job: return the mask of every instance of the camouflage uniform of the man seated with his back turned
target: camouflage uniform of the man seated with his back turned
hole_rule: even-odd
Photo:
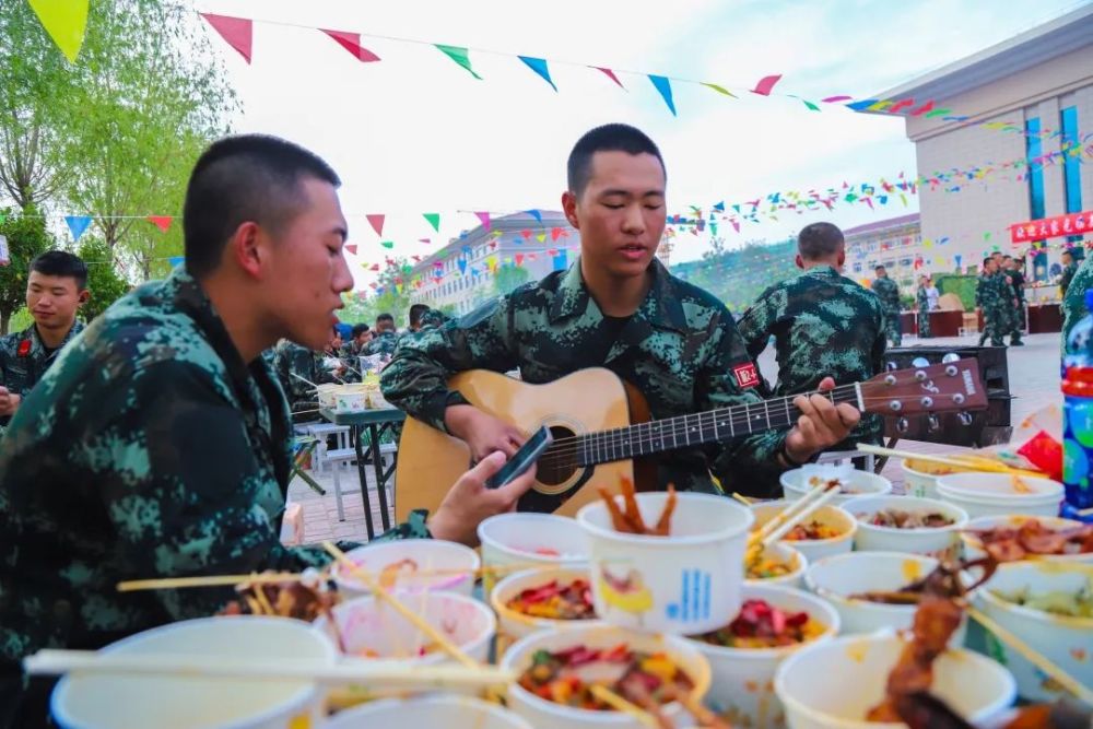
[[[884,310],[880,299],[839,275],[816,266],[771,286],[737,324],[757,358],[773,336],[778,354],[777,396],[815,390],[824,377],[836,385],[869,379],[884,368]],[[883,421],[862,415],[861,423],[832,450],[857,443],[880,443]]]

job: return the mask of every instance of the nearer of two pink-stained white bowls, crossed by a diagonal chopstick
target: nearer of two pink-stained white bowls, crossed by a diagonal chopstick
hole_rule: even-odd
[[[497,632],[497,619],[489,607],[456,592],[420,592],[402,596],[402,600],[468,656],[486,659]],[[449,660],[443,646],[373,596],[336,605],[329,618],[318,618],[313,626],[350,658],[426,665]]]

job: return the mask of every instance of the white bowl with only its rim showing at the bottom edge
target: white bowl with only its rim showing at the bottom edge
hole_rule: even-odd
[[[471,696],[423,696],[386,698],[341,712],[320,729],[392,729],[395,727],[444,727],[444,729],[532,729],[513,712]]]

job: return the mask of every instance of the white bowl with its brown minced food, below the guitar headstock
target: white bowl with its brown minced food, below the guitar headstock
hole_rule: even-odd
[[[952,560],[967,514],[959,506],[917,496],[860,496],[845,508],[858,520],[859,552],[906,552]]]

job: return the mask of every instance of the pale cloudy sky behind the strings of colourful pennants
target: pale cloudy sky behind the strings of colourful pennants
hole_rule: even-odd
[[[898,118],[750,94],[780,73],[776,92],[819,102],[882,92],[1003,40],[1081,3],[1036,0],[774,2],[728,0],[195,0],[203,12],[389,38],[362,38],[383,60],[361,63],[328,36],[255,24],[252,63],[213,37],[243,104],[240,131],[274,133],[318,152],[343,179],[354,262],[427,255],[477,219],[557,209],[565,158],[586,130],[624,121],[649,133],[668,166],[670,212],[807,190],[843,180],[914,174]],[[212,34],[212,30],[208,32]],[[391,37],[420,40],[406,43]],[[473,79],[428,44],[471,47]],[[473,49],[502,51],[495,55]],[[551,63],[555,93],[515,55]],[[620,70],[623,91],[599,71]],[[707,81],[727,98],[674,83],[672,117],[648,79],[623,70]],[[780,239],[812,220],[848,227],[912,208],[836,208],[731,228],[729,246]],[[442,214],[440,234],[421,216]],[[384,238],[364,215],[385,213]],[[726,226],[727,227],[727,226]],[[419,243],[431,237],[432,244]],[[673,260],[707,242],[684,235]],[[354,266],[359,287],[368,274]]]

